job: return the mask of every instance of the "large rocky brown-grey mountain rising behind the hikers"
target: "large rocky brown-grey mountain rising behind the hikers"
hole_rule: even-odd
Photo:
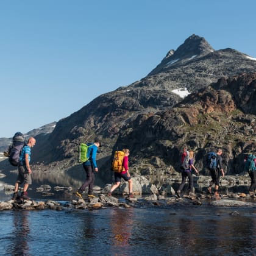
[[[102,141],[99,172],[109,182],[112,153],[130,149],[130,170],[168,186],[179,169],[180,149],[195,152],[201,174],[205,153],[224,151],[227,174],[243,171],[254,146],[255,60],[235,49],[215,51],[191,35],[166,54],[148,76],[91,101],[61,119],[47,137],[37,137],[32,160],[56,169],[76,168],[79,142]],[[187,88],[180,98],[173,90]]]

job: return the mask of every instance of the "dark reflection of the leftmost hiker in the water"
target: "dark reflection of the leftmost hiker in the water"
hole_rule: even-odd
[[[29,256],[30,224],[29,212],[19,211],[13,213],[13,244],[10,244],[7,253],[11,255]]]

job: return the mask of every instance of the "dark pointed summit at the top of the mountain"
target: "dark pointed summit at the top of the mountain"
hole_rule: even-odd
[[[174,63],[186,62],[196,57],[201,57],[210,52],[215,51],[212,46],[198,35],[191,35],[183,44],[181,44],[176,51],[169,51],[162,62],[149,73],[149,76],[166,71],[168,68],[172,68]]]

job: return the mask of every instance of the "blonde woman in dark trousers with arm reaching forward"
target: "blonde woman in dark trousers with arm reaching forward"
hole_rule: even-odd
[[[182,161],[185,160],[186,156],[187,156],[187,154],[185,154],[185,151],[184,151],[183,154],[182,154],[182,158],[183,158]],[[182,168],[182,183],[180,184],[179,190],[177,190],[177,192],[176,192],[179,197],[181,196],[181,191],[183,190],[183,187],[186,183],[187,177],[188,177],[188,180],[189,180],[188,194],[190,194],[190,192],[193,192],[192,169],[194,169],[194,171],[198,174],[198,171],[197,171],[196,167],[194,167],[194,165],[193,165],[193,158],[194,158],[194,152],[190,151],[189,152],[188,166],[187,166],[187,168]]]

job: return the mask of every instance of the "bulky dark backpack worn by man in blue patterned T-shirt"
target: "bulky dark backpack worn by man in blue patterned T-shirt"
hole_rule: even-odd
[[[8,150],[4,152],[5,157],[9,157],[9,162],[12,166],[18,166],[20,163],[20,154],[23,147],[26,145],[26,140],[23,133],[16,132],[12,137],[12,144]]]

